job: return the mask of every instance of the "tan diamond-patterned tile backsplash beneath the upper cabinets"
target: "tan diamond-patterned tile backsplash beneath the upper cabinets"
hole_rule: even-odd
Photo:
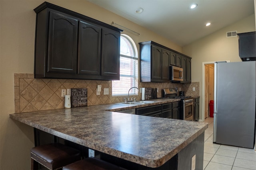
[[[109,88],[109,94],[104,95],[103,90],[96,95],[97,85],[102,89]],[[185,91],[186,96],[199,96],[199,82],[191,84],[139,82],[142,87],[159,88],[157,97],[162,96],[163,88],[175,88]],[[196,91],[192,91],[195,87]],[[64,97],[61,89],[87,88],[87,105],[100,105],[122,102],[124,96],[112,96],[112,81],[106,80],[70,80],[34,78],[34,74],[14,73],[14,109],[15,113],[64,108]],[[133,96],[141,100],[141,94]]]

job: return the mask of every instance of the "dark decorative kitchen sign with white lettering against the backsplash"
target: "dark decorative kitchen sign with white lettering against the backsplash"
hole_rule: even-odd
[[[71,107],[87,106],[87,88],[71,89]]]

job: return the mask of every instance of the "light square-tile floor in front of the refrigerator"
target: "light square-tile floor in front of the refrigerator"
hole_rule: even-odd
[[[205,119],[204,170],[256,170],[256,152],[253,149],[212,143],[213,118]]]

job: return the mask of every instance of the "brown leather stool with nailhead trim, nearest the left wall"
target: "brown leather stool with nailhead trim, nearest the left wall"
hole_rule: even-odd
[[[62,145],[50,143],[34,147],[30,151],[31,170],[38,169],[38,163],[50,170],[61,169],[63,166],[81,160],[80,151]]]

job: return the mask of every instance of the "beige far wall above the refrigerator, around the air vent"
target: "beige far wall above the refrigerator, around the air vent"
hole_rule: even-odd
[[[229,31],[238,33],[255,31],[254,14],[183,47],[183,53],[192,57],[192,82],[200,82],[200,119],[202,119],[202,107],[204,106],[202,101],[202,63],[225,60],[241,61],[238,54],[238,37],[227,38],[226,32]]]

